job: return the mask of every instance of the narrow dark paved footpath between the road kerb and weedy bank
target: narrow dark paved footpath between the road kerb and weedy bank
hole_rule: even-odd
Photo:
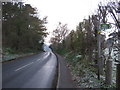
[[[70,70],[67,67],[67,64],[63,57],[57,54],[59,62],[59,75],[58,75],[58,86],[57,88],[76,88]]]

